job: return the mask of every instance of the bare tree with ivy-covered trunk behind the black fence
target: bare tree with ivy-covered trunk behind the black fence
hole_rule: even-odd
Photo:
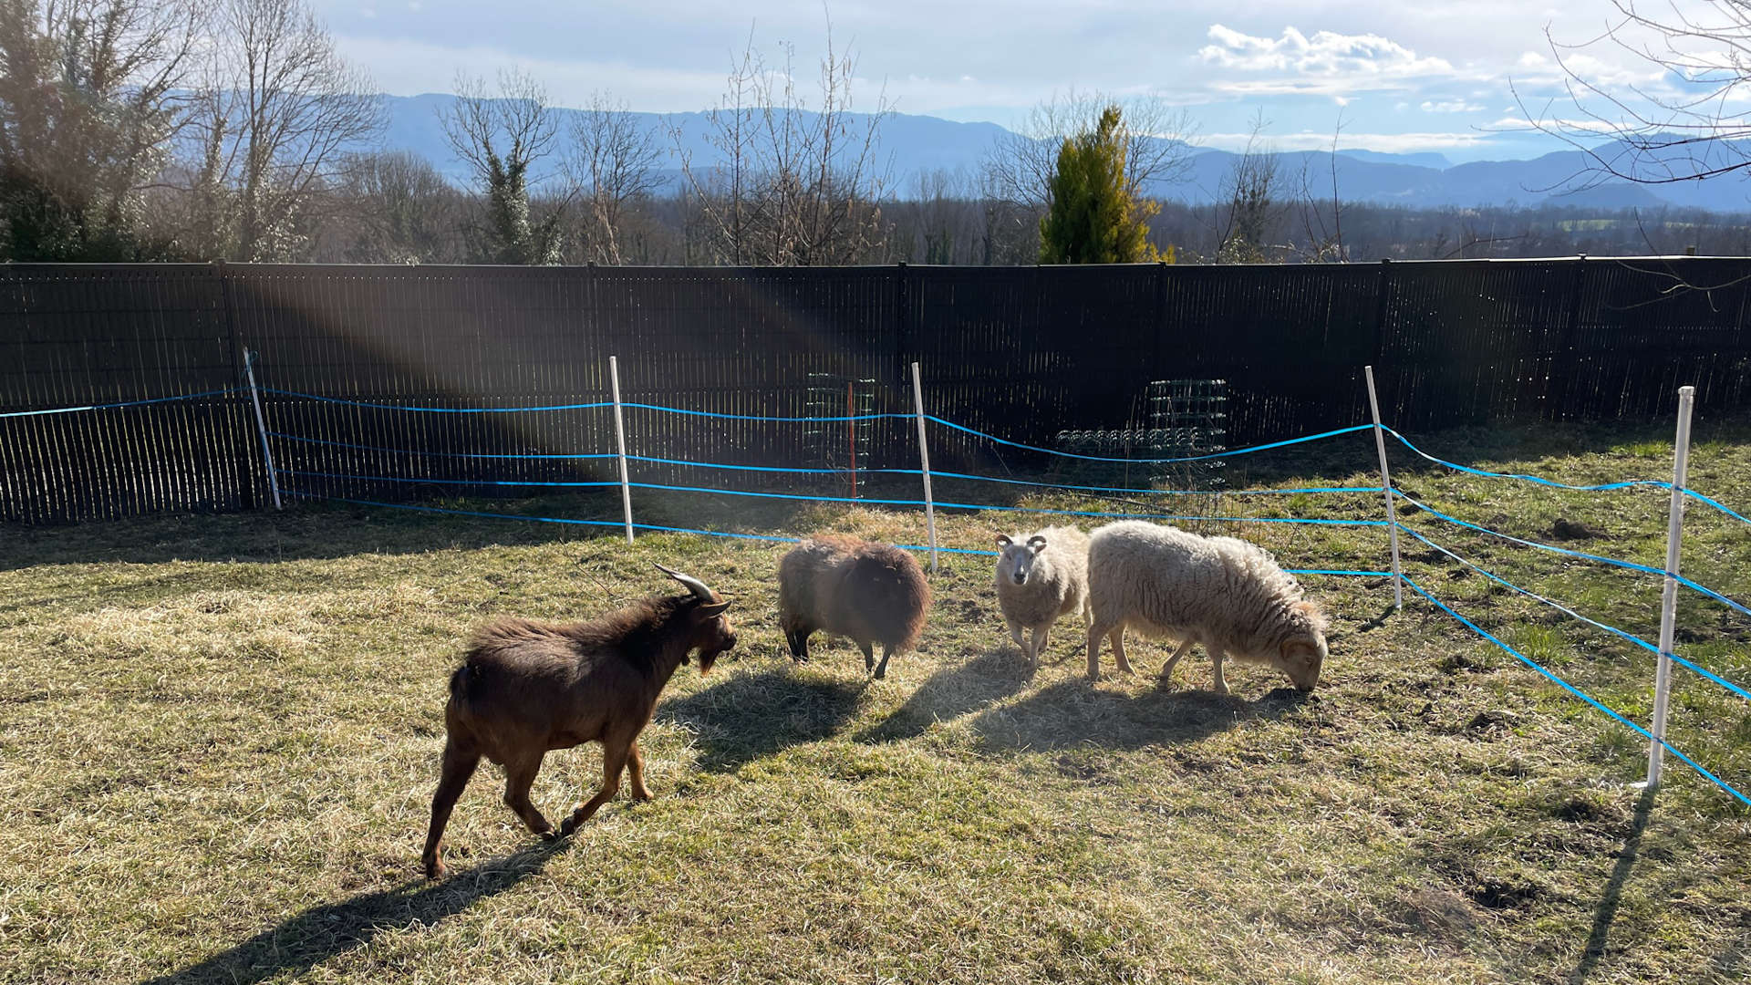
[[[524,72],[501,72],[499,93],[487,93],[480,79],[457,75],[457,100],[440,110],[450,151],[475,172],[485,196],[487,216],[476,230],[476,258],[483,263],[559,263],[560,200],[543,219],[534,219],[531,186],[546,175],[531,174],[553,152],[555,123],[546,89]]]

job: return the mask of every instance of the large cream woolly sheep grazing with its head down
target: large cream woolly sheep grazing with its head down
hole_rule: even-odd
[[[1301,691],[1313,691],[1326,663],[1326,615],[1301,598],[1301,585],[1264,549],[1233,536],[1199,536],[1170,526],[1122,521],[1089,536],[1089,680],[1100,678],[1100,640],[1112,640],[1119,670],[1124,629],[1180,640],[1173,664],[1203,643],[1215,664],[1215,689],[1227,694],[1222,659],[1268,664]]]

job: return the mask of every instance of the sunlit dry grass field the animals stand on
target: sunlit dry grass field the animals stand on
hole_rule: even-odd
[[[1702,429],[1693,485],[1751,505],[1742,428]],[[1236,463],[1234,485],[1366,485],[1371,442]],[[1429,436],[1508,471],[1669,477],[1663,431]],[[1347,457],[1345,457],[1347,456]],[[1404,457],[1404,456],[1397,456]],[[1336,464],[1334,464],[1336,463]],[[1250,471],[1248,471],[1250,470]],[[1066,480],[1073,480],[1068,478]],[[1660,564],[1665,496],[1565,494],[1406,468],[1455,515]],[[947,492],[939,491],[940,496]],[[1042,500],[1093,508],[1087,500]],[[1152,508],[1161,503],[1149,501]],[[1191,503],[1173,503],[1187,507]],[[1378,517],[1378,496],[1199,510]],[[497,505],[615,515],[601,500]],[[641,498],[650,522],[844,529],[912,514]],[[944,519],[986,547],[1014,515]],[[1504,578],[1655,638],[1656,580],[1406,522]],[[1289,566],[1380,568],[1380,529],[1247,524]],[[1751,528],[1707,510],[1684,571],[1751,598]],[[921,652],[867,682],[844,643],[783,655],[783,545],[301,505],[282,515],[4,529],[4,981],[1740,981],[1751,811],[1382,578],[1306,577],[1334,620],[1311,696],[1187,659],[1171,687],[1082,680],[1066,622],[1030,675],[989,559],[949,556]],[[1406,545],[1443,601],[1635,720],[1651,659]],[[418,878],[459,640],[492,613],[587,617],[669,591],[739,599],[742,643],[683,668],[644,734],[657,799],[569,841],[527,836],[487,768],[454,875]],[[1751,619],[1686,598],[1679,652],[1751,682]],[[1143,643],[1140,670],[1164,650]],[[1751,787],[1751,706],[1676,671],[1672,740]],[[548,757],[552,817],[599,776]]]

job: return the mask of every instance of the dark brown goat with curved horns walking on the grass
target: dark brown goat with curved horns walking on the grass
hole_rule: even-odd
[[[730,603],[699,578],[662,570],[690,594],[646,598],[592,622],[501,619],[475,633],[450,675],[443,776],[425,834],[427,878],[445,871],[438,857],[443,829],[482,755],[504,768],[504,806],[543,838],[553,838],[553,827],[529,803],[529,787],[550,750],[602,743],[602,789],[560,822],[562,838],[613,799],[622,769],[632,775],[634,799],[651,797],[637,740],[657,696],[693,650],[699,673],[707,673],[735,645],[725,613]]]

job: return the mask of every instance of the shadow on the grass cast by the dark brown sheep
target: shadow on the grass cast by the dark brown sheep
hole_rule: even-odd
[[[699,766],[732,773],[793,745],[839,731],[858,708],[863,687],[786,670],[739,673],[665,701],[657,719],[693,733]]]

